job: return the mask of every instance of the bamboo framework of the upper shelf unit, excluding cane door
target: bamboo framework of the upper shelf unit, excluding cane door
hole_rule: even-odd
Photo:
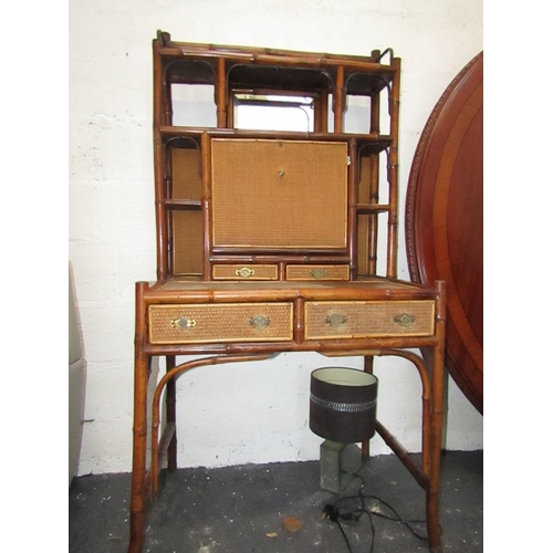
[[[255,67],[289,67],[289,69],[304,69],[311,72],[325,74],[324,83],[333,83],[332,90],[314,88],[312,91],[305,90],[305,85],[298,85],[298,91],[312,93],[315,98],[315,121],[314,133],[310,133],[307,138],[311,140],[319,139],[337,139],[348,142],[352,148],[352,163],[356,158],[355,142],[352,140],[352,135],[344,133],[344,113],[346,106],[346,96],[351,92],[347,91],[346,83],[348,75],[352,74],[374,74],[382,79],[379,86],[385,87],[386,83],[392,87],[395,97],[398,97],[399,88],[399,60],[390,58],[389,64],[380,62],[382,56],[379,52],[372,52],[371,56],[359,55],[336,55],[336,54],[320,54],[309,52],[292,52],[286,50],[267,50],[255,48],[237,48],[237,46],[217,46],[210,44],[191,44],[186,42],[173,41],[168,33],[158,32],[157,39],[153,43],[154,49],[154,127],[155,127],[155,177],[156,177],[156,225],[157,225],[157,267],[158,280],[165,280],[173,276],[173,237],[169,232],[168,225],[170,221],[169,209],[197,209],[195,205],[181,200],[179,202],[168,200],[165,195],[165,178],[164,174],[164,152],[163,143],[174,136],[189,136],[194,137],[196,134],[197,142],[201,143],[202,164],[206,168],[207,159],[209,159],[209,152],[207,149],[208,143],[206,142],[205,134],[208,133],[210,137],[220,136],[236,136],[236,137],[270,137],[273,138],[273,132],[248,132],[237,131],[233,127],[233,94],[234,88],[232,85],[231,70],[234,65],[252,65]],[[170,82],[169,75],[175,75],[177,81],[182,81],[182,70],[176,70],[179,62],[186,63],[186,71],[196,71],[195,67],[204,67],[196,77],[192,77],[190,83],[209,83],[215,86],[215,104],[217,111],[217,128],[190,128],[190,127],[174,127],[171,126],[171,96],[170,96]],[[197,63],[195,63],[197,62]],[[171,67],[171,71],[169,71]],[[211,71],[206,67],[211,67]],[[315,73],[312,73],[315,74]],[[199,81],[197,80],[199,79]],[[317,84],[321,86],[321,83]],[[358,86],[358,85],[357,85]],[[364,86],[364,84],[362,85]],[[371,85],[373,86],[373,85]],[[270,90],[271,85],[268,86]],[[281,93],[284,91],[280,91]],[[292,91],[291,91],[292,92]],[[300,92],[299,92],[300,93]],[[333,94],[333,133],[327,133],[327,108],[328,94]],[[371,93],[372,105],[378,105],[379,91],[376,90]],[[397,107],[397,103],[390,102],[390,105]],[[389,144],[390,152],[390,169],[389,169],[389,198],[390,201],[386,206],[378,206],[371,204],[366,206],[357,206],[357,211],[349,210],[348,221],[348,255],[349,264],[352,268],[351,274],[354,280],[357,275],[354,251],[356,250],[357,236],[353,232],[357,225],[357,217],[362,212],[369,212],[371,233],[368,236],[368,255],[369,268],[376,274],[376,242],[377,242],[377,223],[378,213],[388,213],[388,252],[386,262],[386,275],[395,276],[397,272],[397,160],[395,158],[397,152],[397,108],[393,108],[390,113],[390,128],[393,129],[389,137],[383,137],[379,134],[379,122],[375,116],[375,107],[372,107],[371,113],[371,132],[368,135],[363,135],[364,140],[373,140],[375,144],[385,138]],[[279,133],[282,139],[298,139],[298,133]],[[365,149],[366,143],[363,147],[357,146],[357,150]],[[372,173],[377,177],[379,161],[375,155],[372,155]],[[355,173],[356,168],[352,168],[351,173]],[[167,176],[170,179],[170,175]],[[373,177],[372,177],[373,178]],[[204,278],[209,280],[210,274],[210,258],[217,253],[215,252],[210,242],[208,232],[208,218],[210,211],[209,204],[209,177],[204,176],[206,198],[202,202],[204,216],[204,233],[205,233],[205,255],[204,255]],[[372,198],[378,197],[378,179],[374,178],[372,188]],[[353,197],[354,192],[352,192]],[[374,202],[374,200],[372,200]],[[229,254],[236,255],[237,252],[230,250]],[[258,252],[263,253],[263,252]],[[293,252],[279,252],[285,255]],[[300,252],[298,252],[300,253]],[[305,252],[302,252],[305,254]],[[313,253],[313,252],[311,252]],[[332,254],[334,252],[323,252],[324,254]],[[186,270],[184,271],[186,273]],[[283,274],[285,271],[283,271]]]

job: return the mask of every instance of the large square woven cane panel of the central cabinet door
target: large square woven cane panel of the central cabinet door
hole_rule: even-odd
[[[211,152],[215,247],[346,247],[347,144],[213,139]]]

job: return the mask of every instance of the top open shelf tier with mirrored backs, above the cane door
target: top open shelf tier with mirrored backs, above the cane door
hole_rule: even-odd
[[[376,135],[393,140],[396,134],[392,119],[399,103],[400,60],[389,49],[371,56],[305,53],[175,42],[160,31],[156,44],[155,106],[161,109],[156,121],[161,128],[178,127],[174,134],[180,127],[263,131],[257,113],[268,107],[281,114],[273,121],[284,125],[269,124],[265,129],[273,133],[347,133],[371,135],[368,140]]]

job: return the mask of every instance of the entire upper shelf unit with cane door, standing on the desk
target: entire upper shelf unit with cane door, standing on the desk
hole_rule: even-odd
[[[396,276],[390,49],[153,46],[159,279]]]

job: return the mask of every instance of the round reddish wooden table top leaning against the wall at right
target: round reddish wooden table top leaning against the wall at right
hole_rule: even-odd
[[[448,86],[420,137],[406,202],[411,280],[447,284],[446,366],[483,413],[483,53]]]

